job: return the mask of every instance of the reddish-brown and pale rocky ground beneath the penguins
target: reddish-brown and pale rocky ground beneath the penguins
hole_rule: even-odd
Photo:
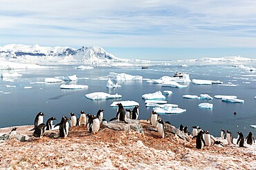
[[[86,127],[71,127],[67,138],[46,131],[41,139],[31,136],[33,126],[18,127],[29,138],[1,140],[0,169],[256,169],[255,145],[241,148],[223,141],[225,147],[196,149],[192,138],[170,132],[160,138],[146,120],[138,125],[138,131],[101,125],[94,135]]]

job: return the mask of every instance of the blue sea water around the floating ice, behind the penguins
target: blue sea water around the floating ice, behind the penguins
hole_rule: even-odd
[[[7,71],[0,71],[7,72]],[[116,100],[135,100],[140,103],[139,119],[147,119],[152,108],[146,108],[141,96],[146,93],[154,93],[161,90],[172,90],[173,94],[167,96],[168,103],[179,105],[182,109],[187,109],[183,114],[161,115],[165,121],[170,121],[172,125],[179,127],[180,124],[188,125],[191,129],[193,125],[199,125],[210,131],[214,136],[219,136],[220,129],[230,129],[235,134],[242,131],[248,134],[256,129],[250,125],[256,125],[256,76],[244,76],[255,74],[246,72],[228,65],[190,65],[189,67],[177,67],[176,65],[156,65],[142,70],[140,67],[95,67],[93,70],[76,70],[72,66],[63,66],[46,70],[10,70],[8,72],[18,72],[21,77],[15,78],[14,82],[0,80],[0,91],[10,92],[10,94],[0,93],[0,127],[10,127],[18,125],[33,125],[35,115],[42,111],[45,121],[51,116],[55,116],[59,122],[62,116],[68,116],[73,112],[79,116],[79,111],[96,114],[98,109],[104,109],[104,118],[109,120],[116,116],[116,108],[111,107],[111,103]],[[106,76],[109,72],[127,73],[131,75],[143,76],[143,78],[161,78],[161,76],[172,76],[175,72],[186,72],[190,74],[190,79],[208,79],[213,81],[223,81],[224,84],[237,84],[236,87],[222,85],[194,85],[188,84],[187,88],[179,89],[173,87],[161,87],[161,85],[149,84],[146,81],[123,81],[118,89],[108,89],[106,86]],[[89,85],[88,89],[64,90],[60,89],[60,84],[35,83],[44,82],[44,78],[53,76],[70,76],[76,74],[80,85]],[[246,82],[246,83],[245,83]],[[248,83],[249,82],[249,83]],[[6,85],[16,85],[16,87],[6,87]],[[30,89],[24,87],[30,86]],[[122,94],[120,99],[109,100],[89,100],[84,95],[92,92],[107,92],[109,94]],[[214,95],[235,95],[239,99],[244,99],[243,103],[225,103],[219,99],[198,100],[183,98],[184,94]],[[212,103],[213,109],[200,109],[199,103]],[[234,115],[237,111],[237,115]]]

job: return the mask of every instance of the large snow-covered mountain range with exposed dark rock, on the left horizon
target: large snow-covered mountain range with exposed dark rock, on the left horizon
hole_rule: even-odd
[[[10,44],[0,46],[0,59],[22,63],[111,63],[125,62],[102,47],[42,47],[39,45]]]

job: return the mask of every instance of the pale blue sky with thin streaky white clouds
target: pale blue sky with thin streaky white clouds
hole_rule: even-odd
[[[0,46],[98,45],[125,59],[256,59],[256,1],[0,0]]]

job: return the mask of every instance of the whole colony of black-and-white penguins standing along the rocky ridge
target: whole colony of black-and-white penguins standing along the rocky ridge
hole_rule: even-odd
[[[127,123],[127,119],[138,120],[138,105],[136,105],[132,111],[130,109],[124,109],[121,103],[118,103],[116,105],[118,106],[116,117],[111,118],[111,120],[109,121],[118,120],[119,122]],[[34,130],[33,136],[37,138],[42,138],[46,130],[52,130],[55,127],[59,127],[59,137],[66,138],[68,136],[69,127],[86,126],[90,133],[96,134],[100,130],[100,124],[107,124],[107,120],[103,118],[103,112],[103,109],[99,109],[96,115],[92,115],[85,114],[84,111],[80,111],[80,116],[78,118],[75,116],[75,114],[70,113],[71,118],[62,116],[60,123],[57,123],[55,126],[53,126],[53,120],[57,120],[55,117],[48,118],[45,125],[45,115],[43,112],[39,112],[37,116],[35,116],[34,128],[30,131]],[[153,127],[156,127],[160,138],[165,138],[165,124],[170,124],[170,122],[163,122],[163,119],[154,110],[152,111],[149,120],[151,125]],[[16,129],[13,131],[16,131]],[[183,125],[180,125],[179,131],[188,136],[192,136],[192,139],[196,138],[197,149],[203,149],[204,146],[210,145],[216,147],[224,147],[223,142],[219,140],[214,140],[214,138],[210,135],[209,131],[204,131],[199,126],[193,126],[192,131],[190,132],[188,131],[188,126],[184,127]],[[255,143],[255,139],[251,131],[246,138],[244,138],[244,134],[242,134],[241,131],[237,132],[237,134],[238,139],[236,145],[238,145],[239,147],[244,147],[244,142],[246,142],[248,145],[253,145]],[[221,129],[220,135],[222,140],[227,140],[228,145],[235,145],[233,143],[233,136],[230,130],[225,131],[224,129]]]

